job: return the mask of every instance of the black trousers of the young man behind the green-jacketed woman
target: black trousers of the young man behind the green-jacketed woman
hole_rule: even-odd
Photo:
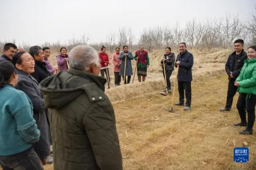
[[[233,104],[233,98],[236,95],[237,86],[234,85],[235,79],[232,78],[228,81],[228,92],[227,92],[227,99],[226,99],[226,109],[231,109]]]

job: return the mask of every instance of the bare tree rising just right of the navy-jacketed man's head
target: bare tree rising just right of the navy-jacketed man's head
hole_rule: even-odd
[[[190,20],[186,23],[185,33],[190,47],[195,48],[198,46],[198,43],[204,34],[204,26],[193,18],[192,21]]]

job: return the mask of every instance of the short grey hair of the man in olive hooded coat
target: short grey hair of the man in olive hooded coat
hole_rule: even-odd
[[[92,64],[100,66],[97,51],[88,45],[78,45],[68,55],[70,56],[70,67],[73,69],[86,71]]]

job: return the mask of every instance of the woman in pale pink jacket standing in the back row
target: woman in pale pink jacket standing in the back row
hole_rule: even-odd
[[[118,58],[120,57],[120,48],[116,48],[116,53],[112,55],[112,63],[113,63],[113,71],[115,76],[115,86],[120,86],[121,76],[119,75],[121,60]]]

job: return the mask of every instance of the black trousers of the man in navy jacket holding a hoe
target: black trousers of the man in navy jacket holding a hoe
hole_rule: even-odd
[[[178,81],[178,91],[179,91],[179,102],[184,104],[184,91],[186,95],[186,106],[191,105],[191,82],[181,82]]]

